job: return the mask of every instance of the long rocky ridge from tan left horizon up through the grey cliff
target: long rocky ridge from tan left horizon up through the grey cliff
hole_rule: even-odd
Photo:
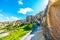
[[[9,22],[0,22],[0,27],[4,26],[20,26],[21,24],[26,24],[26,23],[37,23],[40,25],[41,20],[42,20],[42,14],[44,14],[43,11],[40,13],[36,14],[35,16],[29,15],[26,17],[25,20],[17,20],[17,21],[9,21]]]

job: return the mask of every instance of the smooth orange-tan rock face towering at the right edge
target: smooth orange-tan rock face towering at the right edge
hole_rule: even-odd
[[[51,0],[53,4],[50,5],[49,7],[49,22],[48,24],[50,25],[51,29],[51,36],[53,37],[54,40],[60,40],[60,1]]]

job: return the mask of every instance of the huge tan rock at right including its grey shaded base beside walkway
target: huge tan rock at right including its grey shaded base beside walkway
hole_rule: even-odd
[[[47,40],[60,40],[60,0],[50,0],[45,23],[45,26],[47,26],[45,27]]]

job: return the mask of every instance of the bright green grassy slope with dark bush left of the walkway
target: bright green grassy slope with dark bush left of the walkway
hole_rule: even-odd
[[[27,34],[32,28],[33,28],[33,24],[26,24],[26,25],[23,25],[23,26],[20,26],[20,27],[9,26],[6,29],[10,30],[11,33],[6,37],[1,38],[1,40],[19,40],[25,34]]]

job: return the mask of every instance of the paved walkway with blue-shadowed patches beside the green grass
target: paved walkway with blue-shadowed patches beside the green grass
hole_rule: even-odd
[[[34,24],[33,30],[26,34],[21,40],[45,40],[42,27],[38,27],[37,24]]]

